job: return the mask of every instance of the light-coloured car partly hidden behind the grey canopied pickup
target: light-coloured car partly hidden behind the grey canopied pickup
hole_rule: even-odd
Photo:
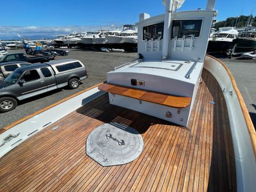
[[[31,63],[27,62],[7,62],[0,63],[0,81],[9,76],[14,70],[23,66],[30,66]]]

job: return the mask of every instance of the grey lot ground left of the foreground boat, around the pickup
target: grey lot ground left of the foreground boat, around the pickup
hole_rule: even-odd
[[[23,52],[23,50],[11,50],[9,52]],[[43,93],[42,95],[31,97],[19,102],[16,109],[6,113],[0,113],[0,129],[3,126],[9,125],[14,121],[21,119],[33,112],[38,111],[48,105],[54,104],[76,92],[82,91],[92,85],[105,81],[105,74],[113,70],[121,64],[127,63],[137,58],[137,53],[128,52],[98,52],[98,51],[84,51],[84,50],[70,50],[67,56],[57,55],[55,59],[78,59],[87,68],[88,79],[82,81],[78,89],[57,89],[55,91]]]

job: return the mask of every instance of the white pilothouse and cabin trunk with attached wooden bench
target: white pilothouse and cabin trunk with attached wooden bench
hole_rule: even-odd
[[[176,12],[184,1],[167,1],[165,14],[140,14],[136,62],[107,73],[99,87],[109,103],[188,126],[216,10]]]

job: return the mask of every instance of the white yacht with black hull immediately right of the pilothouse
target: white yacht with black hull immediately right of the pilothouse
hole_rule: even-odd
[[[233,40],[237,38],[238,31],[234,27],[220,27],[212,38],[209,38],[207,52],[225,52],[233,48]]]

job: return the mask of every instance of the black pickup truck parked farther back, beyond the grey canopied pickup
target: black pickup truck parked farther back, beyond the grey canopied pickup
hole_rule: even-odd
[[[45,56],[34,56],[34,57],[27,58],[25,54],[20,52],[20,53],[14,53],[14,54],[7,54],[3,56],[0,59],[0,63],[16,62],[16,61],[22,61],[22,62],[28,62],[28,63],[44,63],[44,62],[48,62],[49,60],[54,60],[54,56],[45,55]]]

